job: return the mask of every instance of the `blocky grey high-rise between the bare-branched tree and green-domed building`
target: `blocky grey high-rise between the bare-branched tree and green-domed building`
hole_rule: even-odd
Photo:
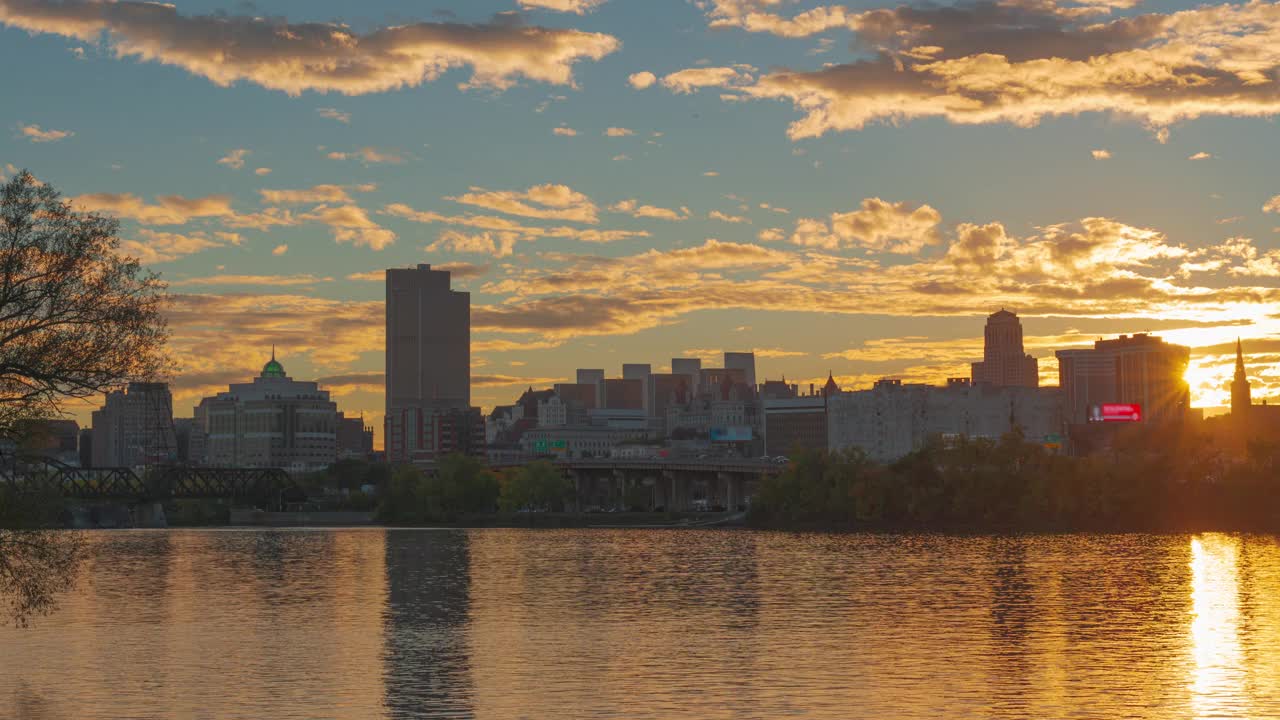
[[[93,411],[92,462],[120,468],[172,462],[178,442],[173,432],[173,395],[166,383],[129,383],[106,393]]]

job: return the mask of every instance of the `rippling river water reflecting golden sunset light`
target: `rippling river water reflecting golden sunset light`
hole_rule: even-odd
[[[1270,536],[91,537],[0,717],[1280,717]]]

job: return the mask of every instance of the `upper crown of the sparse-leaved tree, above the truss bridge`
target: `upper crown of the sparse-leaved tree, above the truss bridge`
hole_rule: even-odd
[[[165,286],[118,229],[26,170],[0,187],[0,434],[166,368]]]

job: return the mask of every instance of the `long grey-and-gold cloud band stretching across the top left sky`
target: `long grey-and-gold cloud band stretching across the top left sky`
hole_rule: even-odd
[[[224,87],[244,81],[289,95],[416,87],[460,67],[471,68],[468,87],[500,90],[520,77],[573,85],[575,63],[599,60],[620,46],[608,35],[525,26],[509,15],[361,35],[332,23],[180,15],[173,5],[132,0],[0,0],[0,23],[82,42],[105,37],[118,58],[179,67]]]

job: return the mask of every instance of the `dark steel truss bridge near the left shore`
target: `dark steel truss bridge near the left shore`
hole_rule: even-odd
[[[230,500],[262,509],[302,502],[306,493],[278,468],[76,468],[41,456],[0,459],[0,483],[19,492],[52,491],[73,500],[164,502],[182,498]]]

